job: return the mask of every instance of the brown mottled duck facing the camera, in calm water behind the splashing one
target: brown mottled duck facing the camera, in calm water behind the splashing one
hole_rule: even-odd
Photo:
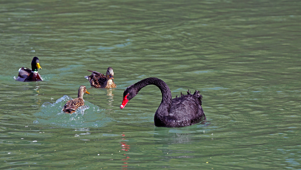
[[[95,88],[116,88],[116,84],[113,82],[114,72],[112,67],[109,67],[106,75],[96,71],[87,70],[92,72],[91,75],[86,75],[85,78],[89,80],[90,85]]]

